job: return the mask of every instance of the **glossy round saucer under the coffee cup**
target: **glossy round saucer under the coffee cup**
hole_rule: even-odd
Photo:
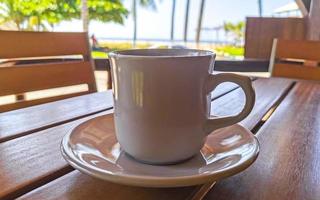
[[[63,157],[74,168],[115,183],[144,187],[179,187],[217,181],[237,174],[257,158],[256,137],[239,124],[208,136],[198,155],[176,165],[148,165],[121,151],[113,115],[86,121],[62,140]]]

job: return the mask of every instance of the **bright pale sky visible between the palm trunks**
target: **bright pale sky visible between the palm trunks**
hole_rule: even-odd
[[[294,0],[262,0],[263,16],[272,16],[273,10]],[[124,6],[130,10],[132,0],[124,0]],[[156,0],[157,10],[138,7],[138,39],[170,39],[172,0]],[[212,28],[224,22],[244,21],[247,16],[258,16],[258,0],[206,0],[202,27]],[[190,0],[188,40],[194,40],[199,15],[200,0]],[[174,38],[183,38],[186,0],[176,0]],[[62,22],[55,31],[81,31],[79,20]],[[91,21],[90,34],[97,38],[130,39],[133,35],[132,16],[129,15],[123,25],[112,22]],[[202,40],[210,40],[213,33],[203,31]]]

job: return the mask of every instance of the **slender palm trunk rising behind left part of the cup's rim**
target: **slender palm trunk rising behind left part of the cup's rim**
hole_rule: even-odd
[[[156,2],[154,0],[139,0],[140,6],[156,9]],[[137,0],[132,2],[132,18],[133,18],[133,47],[136,47],[137,42]]]

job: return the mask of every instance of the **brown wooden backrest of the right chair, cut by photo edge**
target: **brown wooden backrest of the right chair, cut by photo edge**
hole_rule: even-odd
[[[320,80],[320,41],[274,39],[272,76]]]

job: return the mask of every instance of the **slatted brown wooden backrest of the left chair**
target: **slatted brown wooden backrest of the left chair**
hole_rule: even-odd
[[[84,32],[0,31],[0,97],[16,97],[14,102],[0,104],[0,112],[96,92],[90,53],[88,35]],[[28,62],[17,65],[21,60]],[[28,93],[66,86],[82,86],[82,90],[25,98]]]

